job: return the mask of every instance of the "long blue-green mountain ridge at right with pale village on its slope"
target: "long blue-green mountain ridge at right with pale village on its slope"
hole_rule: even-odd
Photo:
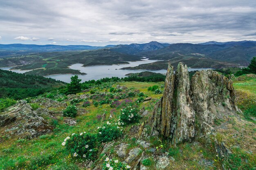
[[[148,57],[151,60],[182,60],[186,57],[203,57],[247,66],[252,57],[256,56],[256,42],[241,41],[206,45],[177,43],[137,55]]]

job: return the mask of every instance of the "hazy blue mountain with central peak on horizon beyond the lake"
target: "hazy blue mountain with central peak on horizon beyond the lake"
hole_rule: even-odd
[[[141,53],[141,52],[146,52],[146,51],[153,51],[153,50],[157,50],[157,49],[162,49],[166,46],[168,46],[170,44],[168,43],[159,43],[156,41],[152,41],[149,43],[145,43],[145,44],[129,44],[129,45],[117,45],[113,48],[111,48],[111,51],[116,51],[119,53],[126,53],[126,54],[137,54],[137,53]]]

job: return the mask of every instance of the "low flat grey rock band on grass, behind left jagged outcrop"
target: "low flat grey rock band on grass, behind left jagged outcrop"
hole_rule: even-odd
[[[38,98],[32,99],[31,103],[39,103],[41,106],[49,107],[67,107],[67,104],[64,102],[58,102],[49,98]]]

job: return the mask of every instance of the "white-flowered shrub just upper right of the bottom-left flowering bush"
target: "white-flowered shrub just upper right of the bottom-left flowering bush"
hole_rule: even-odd
[[[102,127],[98,127],[98,134],[97,138],[100,142],[109,142],[114,139],[118,139],[122,136],[122,128],[119,126],[112,126],[111,123],[107,122],[107,124],[104,124]]]

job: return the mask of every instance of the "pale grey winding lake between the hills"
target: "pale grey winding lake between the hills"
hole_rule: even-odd
[[[130,64],[118,64],[118,65],[100,65],[100,66],[86,66],[83,67],[83,64],[72,64],[69,66],[74,70],[80,70],[82,73],[87,73],[87,75],[78,75],[79,79],[82,79],[82,82],[92,80],[92,79],[101,79],[105,77],[126,77],[128,73],[140,73],[142,71],[151,71],[155,73],[165,74],[166,70],[120,70],[123,67],[133,67],[138,66],[139,64],[147,64],[152,62],[157,62],[159,60],[148,60],[144,59],[142,61],[130,62]],[[3,70],[10,70],[11,67],[0,68]],[[209,68],[188,68],[189,71],[195,70],[204,70]],[[16,73],[25,73],[29,70],[11,70]],[[53,79],[61,80],[63,82],[70,82],[70,77],[72,74],[59,74],[59,75],[48,75],[45,77],[51,77]]]

